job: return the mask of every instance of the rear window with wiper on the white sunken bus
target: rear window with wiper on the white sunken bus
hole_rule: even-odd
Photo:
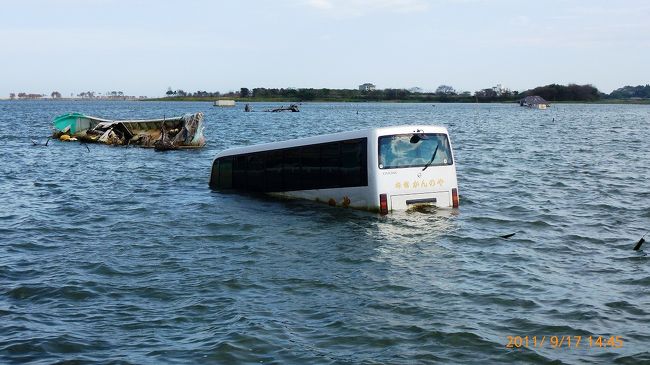
[[[451,149],[445,134],[415,133],[379,137],[380,169],[451,164]]]

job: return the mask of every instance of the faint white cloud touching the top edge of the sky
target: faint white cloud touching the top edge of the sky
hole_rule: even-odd
[[[358,17],[372,12],[412,13],[426,11],[426,0],[306,0],[306,5],[342,17]]]

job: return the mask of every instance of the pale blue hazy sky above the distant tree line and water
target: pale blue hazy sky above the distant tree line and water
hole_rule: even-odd
[[[0,98],[650,83],[650,1],[0,0]]]

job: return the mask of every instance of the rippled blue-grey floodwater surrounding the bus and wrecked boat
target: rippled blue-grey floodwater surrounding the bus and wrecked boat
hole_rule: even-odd
[[[202,111],[209,144],[32,145],[75,111]],[[458,210],[208,188],[227,147],[420,123],[450,131]],[[0,363],[650,362],[649,140],[634,105],[2,101]]]

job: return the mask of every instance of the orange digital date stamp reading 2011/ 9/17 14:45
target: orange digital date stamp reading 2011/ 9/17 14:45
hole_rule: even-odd
[[[579,349],[579,348],[613,348],[623,347],[622,336],[506,336],[506,348],[543,348]]]

